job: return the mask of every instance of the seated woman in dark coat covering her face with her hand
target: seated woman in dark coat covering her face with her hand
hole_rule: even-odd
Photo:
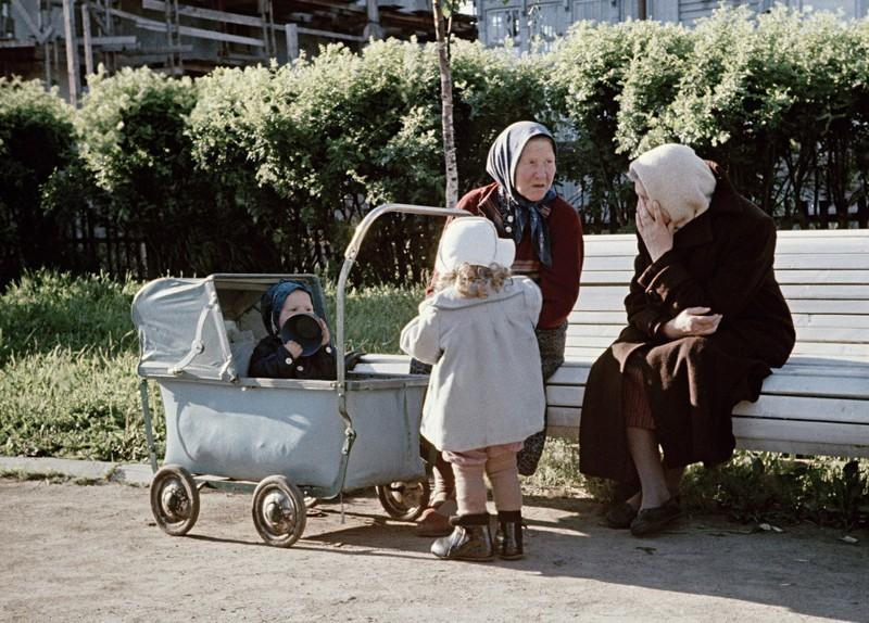
[[[665,144],[629,176],[639,254],[628,326],[589,376],[580,470],[621,483],[630,497],[607,522],[640,536],[679,517],[685,466],[730,458],[733,407],[757,399],[795,338],[772,270],[774,224],[718,165]]]

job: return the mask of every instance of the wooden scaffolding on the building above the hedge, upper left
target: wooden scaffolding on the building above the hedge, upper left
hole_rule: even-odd
[[[60,85],[75,102],[81,77],[100,64],[110,75],[142,65],[201,75],[218,65],[291,62],[328,41],[430,40],[428,1],[0,0],[0,62],[4,74]],[[475,38],[465,22],[457,35]]]

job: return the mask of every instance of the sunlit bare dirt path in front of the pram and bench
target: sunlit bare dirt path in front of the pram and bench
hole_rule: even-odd
[[[188,537],[148,491],[0,479],[2,621],[869,621],[869,534],[691,518],[640,541],[589,500],[532,498],[525,560],[442,562],[358,497],[261,544],[249,498],[204,493]]]

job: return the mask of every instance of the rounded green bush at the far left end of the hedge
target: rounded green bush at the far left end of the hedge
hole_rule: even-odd
[[[73,111],[38,80],[0,77],[0,287],[61,260],[60,224],[40,194],[75,158]]]

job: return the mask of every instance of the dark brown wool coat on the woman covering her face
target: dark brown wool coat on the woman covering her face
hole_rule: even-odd
[[[643,372],[665,463],[681,467],[730,458],[733,406],[756,400],[770,367],[784,365],[793,348],[791,313],[772,271],[774,223],[709,166],[717,180],[709,209],[677,232],[673,249],[653,264],[639,242],[628,327],[585,385],[579,455],[588,475],[635,481],[621,408],[629,357]],[[687,307],[721,314],[718,330],[667,341],[658,330]]]

